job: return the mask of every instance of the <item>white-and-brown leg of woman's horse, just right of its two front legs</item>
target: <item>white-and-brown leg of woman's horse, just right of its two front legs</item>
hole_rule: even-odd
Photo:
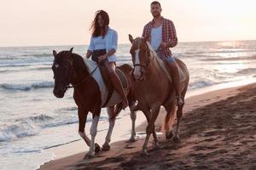
[[[115,116],[113,116],[114,114],[114,106],[112,107],[108,107],[107,108],[107,111],[108,111],[108,122],[109,122],[109,127],[108,127],[108,133],[107,133],[107,136],[106,136],[106,139],[105,139],[105,143],[102,145],[102,150],[110,150],[110,140],[111,140],[111,134],[113,132],[113,126],[114,126],[114,123],[115,123]]]

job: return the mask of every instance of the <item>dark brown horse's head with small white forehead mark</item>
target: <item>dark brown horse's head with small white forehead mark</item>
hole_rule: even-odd
[[[55,88],[53,90],[53,94],[55,94],[55,97],[57,98],[63,98],[67,91],[67,87],[71,82],[72,51],[73,48],[71,48],[69,51],[61,51],[60,53],[53,50],[53,55],[55,57],[51,67],[52,71],[54,72],[55,79]]]

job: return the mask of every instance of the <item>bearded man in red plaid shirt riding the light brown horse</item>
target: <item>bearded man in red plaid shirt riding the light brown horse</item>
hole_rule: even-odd
[[[177,67],[177,62],[172,57],[172,52],[169,48],[173,48],[177,45],[177,36],[175,26],[172,20],[167,20],[161,16],[161,5],[159,2],[154,1],[150,4],[151,14],[153,15],[153,20],[148,22],[143,29],[143,37],[148,37],[152,48],[160,59],[166,60],[170,70],[172,71],[172,80],[174,87],[176,89],[177,95],[177,106],[181,107],[183,105],[183,99],[180,95],[180,78]]]

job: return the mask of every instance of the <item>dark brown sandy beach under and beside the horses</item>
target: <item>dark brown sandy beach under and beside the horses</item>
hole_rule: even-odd
[[[166,140],[160,132],[166,115],[161,110],[156,122],[161,149],[153,150],[150,142],[148,157],[140,155],[144,122],[137,127],[135,143],[111,143],[111,150],[86,160],[84,147],[77,145],[81,153],[49,161],[40,169],[256,169],[255,94],[253,83],[189,97],[179,143]]]

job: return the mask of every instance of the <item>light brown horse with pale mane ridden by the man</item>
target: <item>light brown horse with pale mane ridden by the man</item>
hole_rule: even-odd
[[[147,145],[151,133],[154,136],[154,146],[156,148],[160,147],[154,130],[154,122],[159,115],[161,105],[166,109],[166,139],[171,139],[173,136],[170,129],[175,117],[176,95],[174,86],[162,66],[164,65],[164,61],[155,54],[154,49],[151,48],[146,38],[137,37],[133,39],[129,35],[129,40],[132,44],[130,53],[134,71],[131,76],[134,81],[132,83],[135,98],[138,101],[137,109],[143,111],[148,120],[148,126],[146,128],[147,136],[143,144],[143,155],[148,155]],[[176,59],[176,62],[185,76],[184,81],[181,82],[181,94],[184,98],[189,84],[189,71],[181,60]],[[174,141],[178,141],[179,139],[178,127],[182,115],[183,106],[177,109],[177,128],[173,137]]]

